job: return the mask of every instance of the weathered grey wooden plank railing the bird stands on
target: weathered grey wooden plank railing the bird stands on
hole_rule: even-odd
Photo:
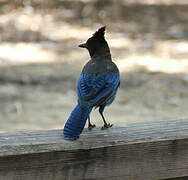
[[[96,128],[79,140],[62,130],[0,133],[2,180],[155,180],[188,176],[188,120]]]

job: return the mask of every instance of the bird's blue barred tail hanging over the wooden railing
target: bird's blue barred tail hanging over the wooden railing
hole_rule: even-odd
[[[91,110],[92,107],[76,105],[64,126],[64,139],[76,140],[79,138]]]

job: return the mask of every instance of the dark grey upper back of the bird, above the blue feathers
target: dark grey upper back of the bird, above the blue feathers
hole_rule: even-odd
[[[119,72],[115,63],[109,60],[90,60],[83,68],[82,74],[106,74]]]

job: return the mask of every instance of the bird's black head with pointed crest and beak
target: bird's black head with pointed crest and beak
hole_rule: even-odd
[[[87,40],[86,43],[80,44],[79,47],[86,48],[89,51],[91,57],[95,54],[110,52],[110,49],[104,37],[105,29],[105,26],[98,29],[93,34],[93,36]]]

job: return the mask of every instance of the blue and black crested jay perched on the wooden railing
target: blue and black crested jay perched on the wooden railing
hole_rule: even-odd
[[[72,110],[63,129],[65,140],[74,141],[80,137],[88,119],[88,129],[95,127],[91,124],[90,113],[99,110],[104,122],[102,130],[112,127],[104,117],[104,109],[110,105],[120,86],[120,73],[112,61],[110,48],[105,39],[106,27],[99,28],[80,48],[89,51],[90,60],[84,65],[77,81],[77,105]]]

